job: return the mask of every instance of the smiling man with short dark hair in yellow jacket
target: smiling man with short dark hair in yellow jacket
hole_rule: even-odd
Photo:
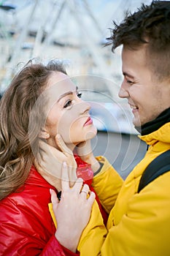
[[[128,99],[134,126],[149,149],[112,203],[107,237],[98,255],[168,256],[170,171],[141,192],[138,188],[147,165],[170,149],[170,1],[152,1],[150,6],[143,4],[137,12],[128,14],[120,25],[115,24],[109,44],[112,50],[123,45],[124,79],[119,96]],[[93,178],[93,188],[107,208],[103,168]]]

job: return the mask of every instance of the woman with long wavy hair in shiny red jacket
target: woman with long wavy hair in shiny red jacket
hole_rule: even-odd
[[[47,140],[58,148],[55,135],[59,131],[69,150],[62,153],[63,160],[72,159],[69,179],[73,185],[77,176],[72,150],[87,135],[96,135],[89,109],[90,105],[82,102],[76,86],[58,61],[47,65],[30,61],[1,98],[0,255],[72,255],[76,251],[72,241],[70,246],[67,244],[71,252],[61,246],[61,231],[55,230],[48,208],[50,189],[61,190],[61,163],[58,162],[54,177],[42,169],[37,172],[34,162],[39,153],[39,140]],[[60,145],[60,139],[57,141]],[[79,191],[79,208],[87,205],[81,218],[74,219],[77,225],[85,227],[94,194],[91,192],[86,197],[89,187],[87,184],[82,187],[81,178],[71,190],[72,198]],[[76,237],[77,234],[72,234],[74,241]]]

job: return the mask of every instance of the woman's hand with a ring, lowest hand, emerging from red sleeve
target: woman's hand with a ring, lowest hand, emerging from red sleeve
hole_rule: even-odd
[[[67,169],[66,163],[63,163],[61,201],[53,190],[50,192],[57,221],[55,237],[67,249],[76,252],[82,230],[90,219],[95,194],[89,192],[87,184],[82,187],[82,178],[78,178],[74,187],[70,188]]]

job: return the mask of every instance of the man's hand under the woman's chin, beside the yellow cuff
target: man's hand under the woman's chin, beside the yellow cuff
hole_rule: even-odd
[[[98,163],[98,161],[96,160],[96,158],[93,155],[90,140],[86,140],[86,141],[78,144],[76,146],[75,151],[76,151],[77,155],[80,156],[84,162],[87,162],[89,165],[91,165],[93,173],[96,173],[96,171],[100,167],[100,164]]]

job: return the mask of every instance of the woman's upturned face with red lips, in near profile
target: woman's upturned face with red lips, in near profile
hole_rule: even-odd
[[[55,135],[60,134],[69,148],[73,144],[91,139],[96,127],[90,118],[90,105],[81,99],[81,94],[70,78],[62,72],[53,72],[47,86],[46,132],[48,143],[56,146]]]

